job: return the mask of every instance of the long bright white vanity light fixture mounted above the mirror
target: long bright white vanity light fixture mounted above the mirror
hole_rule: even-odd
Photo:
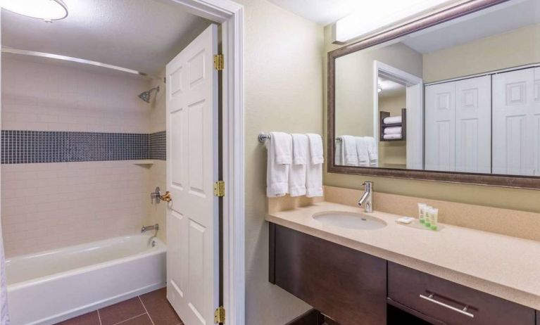
[[[392,24],[435,11],[458,0],[363,1],[353,13],[334,23],[334,42],[346,43]]]

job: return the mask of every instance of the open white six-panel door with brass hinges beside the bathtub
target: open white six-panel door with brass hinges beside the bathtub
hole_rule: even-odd
[[[186,325],[213,324],[218,307],[218,28],[165,68],[167,76],[167,298]]]

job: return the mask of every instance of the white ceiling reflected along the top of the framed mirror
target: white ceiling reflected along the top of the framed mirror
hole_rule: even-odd
[[[410,34],[401,42],[429,53],[535,23],[540,23],[540,1],[514,0]]]

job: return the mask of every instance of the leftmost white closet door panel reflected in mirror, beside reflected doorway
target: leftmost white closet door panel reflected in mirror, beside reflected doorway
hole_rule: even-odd
[[[425,169],[455,170],[456,84],[425,88]]]

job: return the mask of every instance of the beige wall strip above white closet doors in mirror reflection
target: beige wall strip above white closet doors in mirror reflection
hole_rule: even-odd
[[[540,63],[540,24],[424,54],[424,81],[434,82]]]

